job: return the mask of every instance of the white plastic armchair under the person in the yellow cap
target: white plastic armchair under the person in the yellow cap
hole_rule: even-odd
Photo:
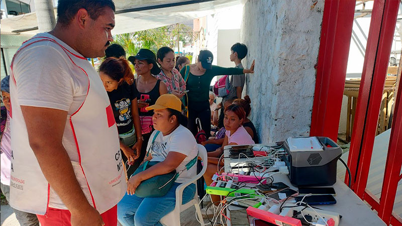
[[[201,170],[201,172],[199,172],[195,177],[193,177],[193,178],[189,179],[188,181],[177,186],[177,188],[176,188],[176,205],[174,206],[173,211],[171,211],[170,213],[168,213],[167,215],[162,217],[162,219],[159,221],[160,223],[162,223],[166,226],[180,225],[180,212],[188,209],[192,205],[195,206],[195,211],[198,215],[199,221],[204,223],[203,215],[201,214],[201,209],[199,208],[199,205],[198,205],[199,199],[197,196],[196,189],[195,189],[194,198],[192,200],[190,200],[189,202],[185,203],[184,205],[181,204],[184,188],[187,187],[191,183],[195,183],[195,181],[197,181],[197,179],[202,177],[204,175],[205,171],[207,170],[207,164],[208,164],[207,150],[205,149],[204,146],[202,146],[200,144],[197,144],[197,148],[198,148],[198,157],[200,157],[203,160],[203,164],[204,164],[203,170]],[[195,166],[196,165],[194,165],[193,167],[195,167]]]

